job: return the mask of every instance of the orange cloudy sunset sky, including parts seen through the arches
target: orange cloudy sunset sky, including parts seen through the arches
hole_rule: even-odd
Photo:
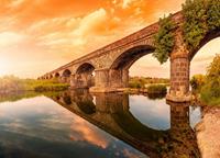
[[[0,0],[0,76],[36,78],[182,9],[184,0]],[[193,74],[206,71],[220,38],[196,55]],[[208,52],[208,53],[207,53]],[[151,55],[131,76],[168,77]]]

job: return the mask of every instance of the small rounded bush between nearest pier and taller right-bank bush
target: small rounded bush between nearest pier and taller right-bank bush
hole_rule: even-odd
[[[193,90],[197,92],[200,91],[205,82],[206,82],[206,77],[204,75],[195,75],[190,80]]]

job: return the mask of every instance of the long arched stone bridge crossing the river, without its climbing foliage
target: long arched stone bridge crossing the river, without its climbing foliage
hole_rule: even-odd
[[[190,101],[189,70],[195,54],[210,40],[220,36],[220,31],[211,32],[195,52],[187,50],[183,40],[183,14],[172,16],[177,24],[174,30],[175,46],[170,54],[170,89],[167,99],[174,102]],[[158,22],[122,40],[97,49],[67,65],[64,65],[38,79],[59,78],[69,82],[73,89],[89,88],[91,92],[112,92],[128,87],[129,68],[142,56],[155,50],[154,35]]]

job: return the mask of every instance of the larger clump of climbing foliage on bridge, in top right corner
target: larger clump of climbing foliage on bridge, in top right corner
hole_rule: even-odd
[[[220,29],[219,0],[186,0],[183,14],[184,38],[190,52],[199,46],[209,31]]]

